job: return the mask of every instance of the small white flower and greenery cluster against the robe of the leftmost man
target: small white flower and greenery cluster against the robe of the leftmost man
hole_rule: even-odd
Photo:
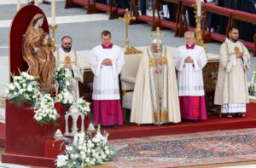
[[[72,76],[68,72],[67,68],[57,67],[55,68],[54,79],[59,84],[58,91],[67,89],[71,84]]]

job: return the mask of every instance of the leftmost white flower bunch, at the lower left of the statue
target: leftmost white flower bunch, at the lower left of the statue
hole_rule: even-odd
[[[23,102],[33,105],[35,101],[35,90],[38,89],[38,82],[28,72],[20,72],[20,76],[12,75],[13,82],[7,84],[5,90],[9,101],[15,102],[18,106]]]

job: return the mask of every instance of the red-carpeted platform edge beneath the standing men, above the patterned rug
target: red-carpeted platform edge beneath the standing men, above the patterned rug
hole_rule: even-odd
[[[225,116],[218,115],[208,116],[206,121],[198,122],[182,122],[178,124],[166,125],[136,125],[124,124],[118,129],[102,128],[109,133],[109,139],[124,139],[131,137],[143,136],[160,136],[170,134],[183,134],[209,130],[235,130],[256,127],[256,104],[250,103],[247,105],[247,118],[233,117],[227,119]]]

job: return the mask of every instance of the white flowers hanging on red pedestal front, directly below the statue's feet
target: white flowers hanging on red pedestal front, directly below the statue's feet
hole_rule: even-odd
[[[34,119],[36,119],[40,124],[56,122],[59,117],[55,109],[55,101],[49,94],[40,95],[38,101],[39,108],[35,110]]]

